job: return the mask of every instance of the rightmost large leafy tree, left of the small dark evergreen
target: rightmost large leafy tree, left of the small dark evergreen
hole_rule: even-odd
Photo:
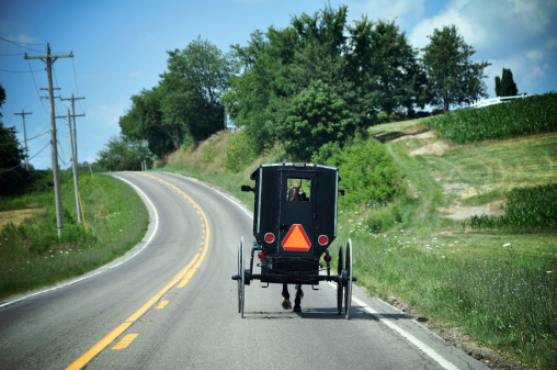
[[[447,112],[451,105],[471,103],[480,97],[487,97],[487,76],[484,69],[491,64],[474,63],[470,57],[476,51],[458,35],[455,25],[435,29],[428,36],[430,44],[422,48],[422,64],[429,79],[432,103]]]

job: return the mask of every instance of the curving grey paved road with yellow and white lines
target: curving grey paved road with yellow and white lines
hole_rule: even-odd
[[[254,282],[240,318],[230,277],[250,212],[178,175],[114,176],[146,202],[146,237],[83,278],[0,302],[0,369],[486,369],[357,288],[346,321],[328,283],[305,289],[296,314],[280,285]]]

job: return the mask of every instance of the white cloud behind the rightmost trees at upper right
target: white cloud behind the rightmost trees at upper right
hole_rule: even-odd
[[[491,97],[495,77],[501,76],[502,68],[511,69],[519,91],[556,90],[556,19],[555,0],[453,0],[437,14],[421,20],[410,31],[409,41],[422,48],[434,29],[454,24],[476,49],[473,59],[492,64],[485,70]]]

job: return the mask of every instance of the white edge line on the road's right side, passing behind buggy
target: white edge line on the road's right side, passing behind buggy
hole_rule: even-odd
[[[187,176],[183,176],[183,175],[178,175],[178,173],[172,173],[172,172],[166,172],[166,173],[169,173],[169,175],[173,175],[173,176],[180,176],[182,178],[185,178],[187,180],[191,180],[191,181],[194,181],[194,182],[197,182],[197,183],[201,183],[209,189],[212,189],[213,191],[219,193],[220,195],[223,195],[224,198],[228,199],[230,202],[235,203],[240,210],[242,210],[243,212],[246,212],[248,214],[248,216],[250,217],[253,217],[249,211],[246,210],[246,208],[241,204],[238,203],[238,201],[231,197],[229,197],[228,194],[224,193],[223,191],[218,190],[217,188],[215,187],[211,187],[208,186],[207,183],[205,183],[204,181],[201,181],[201,180],[197,180],[195,178],[191,178],[191,177],[187,177]],[[336,288],[337,285],[329,282],[329,284],[333,288]],[[354,301],[356,304],[359,304],[360,306],[363,307],[364,311],[366,311],[368,314],[377,317],[378,321],[380,321],[383,324],[387,325],[390,329],[393,329],[394,332],[397,332],[400,336],[402,336],[403,338],[406,338],[408,341],[410,341],[412,345],[414,345],[416,347],[418,347],[420,350],[422,350],[425,355],[428,355],[429,357],[431,357],[433,360],[435,360],[436,362],[439,362],[439,365],[441,365],[444,369],[446,370],[458,370],[457,367],[455,367],[453,363],[451,363],[450,361],[447,361],[443,356],[441,356],[440,354],[437,354],[433,348],[429,347],[428,345],[425,345],[423,341],[421,341],[420,339],[418,339],[417,337],[414,337],[413,335],[411,335],[410,333],[406,332],[405,329],[402,329],[400,326],[398,326],[397,324],[395,324],[394,322],[391,321],[388,321],[385,318],[385,316],[383,316],[382,314],[379,314],[377,311],[373,310],[372,307],[370,307],[367,304],[365,304],[362,300],[353,296],[352,298],[352,301]]]

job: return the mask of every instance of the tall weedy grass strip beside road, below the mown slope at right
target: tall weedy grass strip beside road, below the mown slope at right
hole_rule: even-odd
[[[374,234],[346,216],[339,238],[352,238],[354,273],[371,294],[396,295],[434,326],[462,327],[533,367],[555,367],[555,234],[535,243],[523,235]]]

